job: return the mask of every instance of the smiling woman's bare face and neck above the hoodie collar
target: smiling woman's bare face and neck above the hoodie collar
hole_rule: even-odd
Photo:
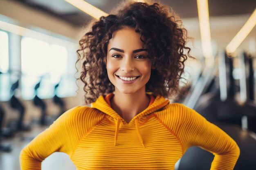
[[[139,33],[130,27],[124,27],[113,34],[107,51],[104,62],[108,78],[115,86],[111,106],[129,122],[150,102],[145,92],[152,61],[147,57],[147,49],[144,48]]]

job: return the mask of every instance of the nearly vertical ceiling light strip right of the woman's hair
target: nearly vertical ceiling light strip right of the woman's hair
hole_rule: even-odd
[[[197,0],[202,52],[204,57],[213,57],[209,22],[208,0]]]

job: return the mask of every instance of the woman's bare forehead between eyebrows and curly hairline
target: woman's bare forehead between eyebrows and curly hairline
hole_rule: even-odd
[[[113,33],[112,38],[108,43],[108,51],[110,48],[115,47],[126,51],[133,51],[140,49],[143,46],[139,38],[139,33],[135,32],[135,29],[121,29]]]

